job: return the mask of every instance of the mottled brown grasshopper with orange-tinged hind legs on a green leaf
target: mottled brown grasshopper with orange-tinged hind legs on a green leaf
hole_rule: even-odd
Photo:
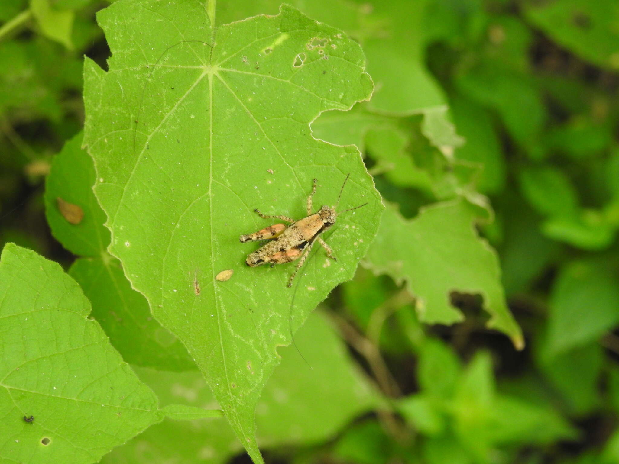
[[[346,185],[349,176],[350,174],[348,174],[346,179],[344,179],[344,184],[342,184],[342,188],[340,189],[340,194],[337,197],[337,203],[335,206],[321,206],[316,213],[312,213],[312,198],[316,193],[316,183],[318,182],[314,179],[311,194],[309,194],[307,201],[308,215],[298,221],[292,220],[284,215],[267,216],[262,214],[260,210],[255,209],[254,211],[258,213],[262,219],[280,219],[288,222],[289,225],[274,224],[259,230],[258,232],[254,232],[253,234],[241,235],[241,243],[256,240],[271,240],[269,243],[263,245],[253,253],[250,253],[245,260],[245,263],[249,267],[256,267],[261,264],[271,264],[271,267],[273,267],[275,264],[292,262],[300,258],[295,271],[290,276],[290,279],[288,279],[287,286],[290,287],[292,286],[292,281],[297,275],[297,272],[301,269],[301,266],[303,266],[303,263],[307,259],[309,251],[311,251],[311,247],[316,241],[318,241],[318,243],[321,244],[327,252],[327,257],[337,261],[337,259],[333,256],[331,247],[325,243],[325,241],[320,237],[320,234],[331,228],[331,226],[335,224],[335,218],[341,214],[337,213],[335,208],[339,205],[342,191],[344,191],[344,186]],[[367,205],[367,203],[354,208],[349,208],[342,211],[342,213],[355,210],[365,205]]]

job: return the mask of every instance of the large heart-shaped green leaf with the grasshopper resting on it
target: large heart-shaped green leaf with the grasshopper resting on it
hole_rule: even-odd
[[[370,96],[363,53],[287,6],[217,29],[212,4],[197,0],[118,2],[98,20],[112,58],[108,72],[85,64],[84,142],[109,250],[261,462],[254,408],[276,348],[352,277],[383,209],[357,149],[309,131],[321,111]],[[327,234],[337,264],[314,251],[296,293],[285,288],[293,265],[245,266],[257,246],[238,236],[269,225],[254,208],[302,217],[311,179],[320,185],[315,204],[334,204],[348,173],[340,210],[369,204]],[[227,269],[232,279],[216,281]]]

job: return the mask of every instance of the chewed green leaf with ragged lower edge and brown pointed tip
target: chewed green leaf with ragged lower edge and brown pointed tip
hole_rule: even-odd
[[[417,296],[423,322],[453,324],[463,319],[451,306],[452,291],[479,293],[491,314],[488,327],[501,330],[522,347],[522,333],[507,307],[496,252],[478,238],[474,214],[464,200],[425,207],[407,221],[391,207],[383,215],[367,262],[374,272],[405,280]]]

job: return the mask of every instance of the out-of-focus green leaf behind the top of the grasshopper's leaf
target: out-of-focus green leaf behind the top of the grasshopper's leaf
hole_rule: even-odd
[[[279,0],[222,2],[227,21],[258,13],[275,13]],[[348,0],[290,2],[316,20],[340,28],[363,46],[376,92],[368,104],[391,114],[421,114],[446,105],[443,90],[426,68],[425,22],[428,0]],[[219,6],[218,6],[219,7]]]

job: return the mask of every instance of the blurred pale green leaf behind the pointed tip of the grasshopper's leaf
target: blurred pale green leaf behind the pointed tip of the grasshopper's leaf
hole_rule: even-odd
[[[282,363],[258,403],[262,446],[309,445],[331,439],[355,415],[376,406],[378,396],[348,356],[324,314],[314,312],[297,332],[298,350],[282,349]],[[197,372],[136,369],[162,404],[212,405],[214,398]],[[329,379],[325,382],[324,379]],[[333,405],[337,405],[334,408]],[[179,442],[183,446],[179,446]],[[241,445],[217,421],[163,421],[103,458],[103,463],[193,464],[227,462]]]

